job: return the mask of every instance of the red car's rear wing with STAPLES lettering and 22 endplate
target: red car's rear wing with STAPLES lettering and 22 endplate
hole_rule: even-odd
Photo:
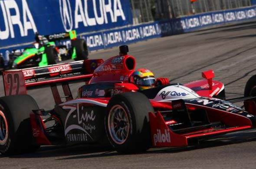
[[[103,62],[103,59],[93,59],[3,71],[5,95],[26,94],[27,90],[36,87],[40,88],[43,85],[49,85],[53,90],[57,83],[61,83],[63,86],[70,81],[89,81],[95,68]]]

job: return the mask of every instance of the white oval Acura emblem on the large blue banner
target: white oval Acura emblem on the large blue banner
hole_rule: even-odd
[[[73,20],[69,0],[59,0],[59,11],[64,29],[66,32],[71,31],[73,28]]]

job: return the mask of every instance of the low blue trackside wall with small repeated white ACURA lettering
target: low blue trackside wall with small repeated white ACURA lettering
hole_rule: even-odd
[[[147,39],[187,33],[204,27],[246,20],[256,20],[256,6],[197,14],[173,20],[156,21],[138,26],[80,35],[80,37],[86,40],[90,51],[95,51]],[[64,44],[69,45],[70,42],[67,41]],[[16,49],[23,49],[24,47],[20,46]],[[8,60],[8,53],[11,49],[13,48],[0,50],[5,60]]]

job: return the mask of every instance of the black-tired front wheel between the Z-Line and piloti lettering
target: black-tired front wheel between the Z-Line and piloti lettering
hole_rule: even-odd
[[[111,98],[105,114],[105,131],[118,153],[139,153],[151,147],[149,112],[154,109],[144,94],[126,92]]]

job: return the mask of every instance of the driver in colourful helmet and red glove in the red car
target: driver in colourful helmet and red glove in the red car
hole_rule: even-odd
[[[155,78],[152,71],[146,68],[140,68],[134,71],[130,77],[131,83],[135,83],[139,90],[158,87],[161,85],[169,84],[168,78]]]

